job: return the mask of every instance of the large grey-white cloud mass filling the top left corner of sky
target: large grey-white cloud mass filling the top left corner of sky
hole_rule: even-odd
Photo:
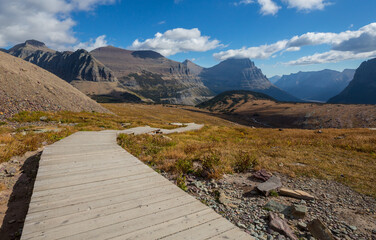
[[[74,11],[91,11],[116,0],[0,0],[0,47],[37,39],[63,50],[78,44]]]

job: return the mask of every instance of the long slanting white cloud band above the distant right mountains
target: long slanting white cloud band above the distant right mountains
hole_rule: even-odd
[[[315,46],[327,44],[332,50],[323,54],[307,56],[299,61],[292,61],[291,64],[315,64],[322,61],[332,62],[337,57],[340,60],[363,58],[373,56],[376,51],[376,23],[366,25],[356,31],[345,31],[340,33],[314,33],[309,32],[300,36],[294,36],[289,40],[281,40],[273,44],[266,44],[257,47],[231,49],[215,53],[214,57],[219,60],[228,58],[258,58],[266,59],[275,53],[299,51],[304,46]]]

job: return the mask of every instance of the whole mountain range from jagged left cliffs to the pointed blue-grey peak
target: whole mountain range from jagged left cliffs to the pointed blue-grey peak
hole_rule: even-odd
[[[228,59],[203,68],[154,51],[107,46],[91,52],[59,52],[36,40],[3,51],[54,73],[100,102],[195,105],[228,90],[252,90],[280,101],[299,101],[270,83],[249,59]]]

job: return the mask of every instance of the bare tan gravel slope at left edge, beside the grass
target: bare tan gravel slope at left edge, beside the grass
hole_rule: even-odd
[[[109,112],[50,72],[0,52],[0,118],[60,110]]]

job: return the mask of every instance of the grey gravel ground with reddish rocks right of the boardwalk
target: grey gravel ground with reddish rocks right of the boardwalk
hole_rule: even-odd
[[[280,174],[274,175],[284,188],[303,190],[315,199],[281,196],[277,190],[264,196],[257,190],[263,181],[253,174],[226,175],[218,181],[189,176],[187,192],[256,239],[315,239],[314,234],[324,234],[322,239],[376,239],[374,198],[334,181],[295,179]],[[173,181],[172,176],[164,175]],[[317,229],[322,228],[321,223],[328,231]]]

